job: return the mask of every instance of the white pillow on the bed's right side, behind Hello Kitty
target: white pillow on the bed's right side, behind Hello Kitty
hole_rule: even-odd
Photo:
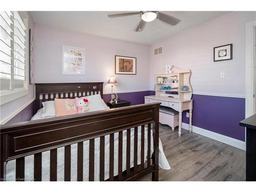
[[[105,110],[105,109],[110,109],[106,103],[101,99],[100,94],[96,95],[90,95],[90,96],[85,96],[81,98],[87,98],[88,99],[88,110],[90,111],[98,111],[98,110]]]

